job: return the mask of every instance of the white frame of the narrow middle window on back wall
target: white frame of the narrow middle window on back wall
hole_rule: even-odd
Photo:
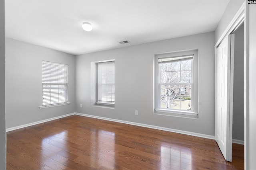
[[[99,66],[100,65],[103,65],[103,64],[109,64],[109,63],[112,63],[114,64],[115,66],[115,61],[103,61],[103,62],[98,62],[97,63],[97,99],[96,99],[96,105],[99,105],[99,106],[110,106],[110,107],[114,107],[115,106],[115,102],[109,102],[109,101],[102,101],[102,100],[99,100],[99,95],[100,95],[100,88],[99,86],[101,85],[100,84],[100,70],[99,70]],[[115,73],[114,73],[115,75]],[[115,85],[115,84],[109,84],[109,83],[106,83],[106,85]],[[114,93],[115,94],[115,93]]]

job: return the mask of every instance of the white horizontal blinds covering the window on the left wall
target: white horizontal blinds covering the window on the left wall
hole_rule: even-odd
[[[68,65],[42,61],[42,106],[68,102]]]

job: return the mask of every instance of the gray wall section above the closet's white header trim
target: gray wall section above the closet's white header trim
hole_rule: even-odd
[[[245,0],[230,0],[228,6],[215,30],[215,43],[220,39],[222,33],[228,27]],[[247,2],[247,0],[246,0]]]

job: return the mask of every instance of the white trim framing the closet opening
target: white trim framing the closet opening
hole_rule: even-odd
[[[220,45],[220,43],[222,43],[223,39],[232,34],[242,23],[246,22],[245,21],[245,16],[246,16],[246,2],[244,2],[242,4],[242,6],[240,7],[240,9],[238,10],[238,12],[236,13],[236,15],[234,16],[234,18],[232,19],[232,21],[229,23],[228,27],[226,27],[225,31],[222,33],[222,35],[220,36],[220,39],[218,39],[217,43],[214,46],[214,62],[217,62],[217,47]],[[244,31],[246,31],[246,24],[244,24]],[[244,34],[246,34],[246,32],[244,32]],[[246,36],[244,36],[244,38],[246,39]],[[245,41],[244,41],[245,42]],[[246,47],[246,43],[244,44],[244,49]],[[244,53],[244,57],[246,58],[246,50]],[[214,83],[214,88],[215,88],[215,104],[216,104],[216,64],[215,64],[215,83]],[[244,70],[246,70],[246,66],[244,66]],[[246,73],[246,71],[245,71]],[[244,80],[244,83],[246,84],[246,81]],[[244,85],[244,87],[246,88],[246,85]],[[246,90],[246,89],[245,89]],[[244,95],[246,96],[246,93],[244,93]],[[246,97],[244,98],[245,102],[246,102]],[[229,104],[228,104],[229,106]],[[216,108],[215,108],[216,109]],[[216,111],[215,111],[216,112]],[[246,117],[246,111],[244,112],[244,115]],[[216,113],[214,115],[215,120],[216,120]],[[232,122],[233,117],[230,117],[230,122]],[[215,126],[215,131],[216,131],[216,126]],[[244,123],[244,134],[245,134],[245,138],[244,138],[244,145],[246,145],[246,119],[245,119],[245,123]],[[232,134],[231,134],[232,135]],[[228,135],[230,136],[230,135]],[[232,139],[228,139],[228,140],[232,140]],[[232,146],[231,146],[232,147]],[[244,146],[246,149],[246,146]],[[246,156],[244,156],[244,162],[246,162]]]

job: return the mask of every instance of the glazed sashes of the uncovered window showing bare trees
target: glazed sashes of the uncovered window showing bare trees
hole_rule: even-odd
[[[158,108],[194,111],[194,55],[158,58]]]

